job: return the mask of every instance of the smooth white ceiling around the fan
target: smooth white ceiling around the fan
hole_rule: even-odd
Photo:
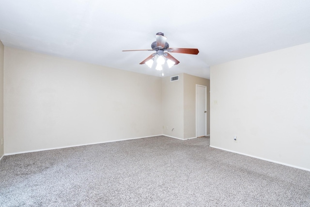
[[[180,64],[166,76],[210,77],[210,66],[310,42],[310,0],[0,0],[0,40],[22,48],[159,76],[139,63],[156,32]]]

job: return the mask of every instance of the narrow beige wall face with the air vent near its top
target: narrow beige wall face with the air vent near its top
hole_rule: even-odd
[[[184,74],[179,80],[162,79],[163,134],[184,139]]]

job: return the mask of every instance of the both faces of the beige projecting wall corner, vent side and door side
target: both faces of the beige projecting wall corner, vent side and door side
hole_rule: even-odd
[[[162,78],[163,134],[178,139],[196,137],[196,84],[207,86],[207,111],[209,110],[210,80],[185,73],[179,80]],[[207,113],[207,134],[209,133]],[[172,130],[173,129],[173,130]]]

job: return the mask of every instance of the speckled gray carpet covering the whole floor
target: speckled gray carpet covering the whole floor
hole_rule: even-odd
[[[164,136],[0,161],[1,207],[310,207],[310,172]]]

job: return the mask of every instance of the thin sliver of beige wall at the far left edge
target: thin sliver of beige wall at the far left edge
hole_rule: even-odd
[[[0,159],[4,154],[4,145],[1,144],[1,139],[3,139],[3,62],[4,46],[0,41]]]

